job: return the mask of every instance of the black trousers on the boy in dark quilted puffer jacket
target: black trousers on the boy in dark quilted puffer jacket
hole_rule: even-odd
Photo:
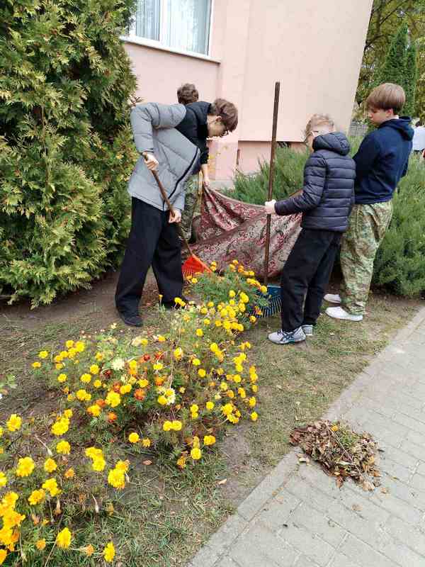
[[[316,324],[341,236],[331,230],[300,232],[282,272],[282,330]]]

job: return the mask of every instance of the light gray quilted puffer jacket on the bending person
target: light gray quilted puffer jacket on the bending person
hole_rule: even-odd
[[[174,208],[184,208],[184,184],[193,169],[198,167],[200,152],[175,127],[186,116],[183,104],[138,104],[132,109],[130,120],[137,151],[152,153],[158,160],[158,176]],[[162,199],[152,172],[140,156],[130,180],[128,192],[161,210],[168,207]]]

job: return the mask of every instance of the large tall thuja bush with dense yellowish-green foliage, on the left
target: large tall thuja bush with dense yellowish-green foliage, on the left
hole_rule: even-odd
[[[89,286],[128,231],[134,0],[0,8],[0,289],[33,306]]]

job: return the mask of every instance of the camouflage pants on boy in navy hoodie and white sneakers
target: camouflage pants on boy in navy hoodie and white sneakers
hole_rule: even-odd
[[[353,315],[365,313],[373,262],[392,217],[392,201],[356,205],[341,241],[341,305]]]

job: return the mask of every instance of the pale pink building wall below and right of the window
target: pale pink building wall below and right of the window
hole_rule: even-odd
[[[212,1],[209,57],[126,43],[142,99],[172,103],[194,82],[200,99],[237,105],[237,130],[210,142],[212,179],[232,179],[238,158],[244,172],[268,159],[276,81],[278,140],[300,142],[317,112],[348,130],[373,0]]]

